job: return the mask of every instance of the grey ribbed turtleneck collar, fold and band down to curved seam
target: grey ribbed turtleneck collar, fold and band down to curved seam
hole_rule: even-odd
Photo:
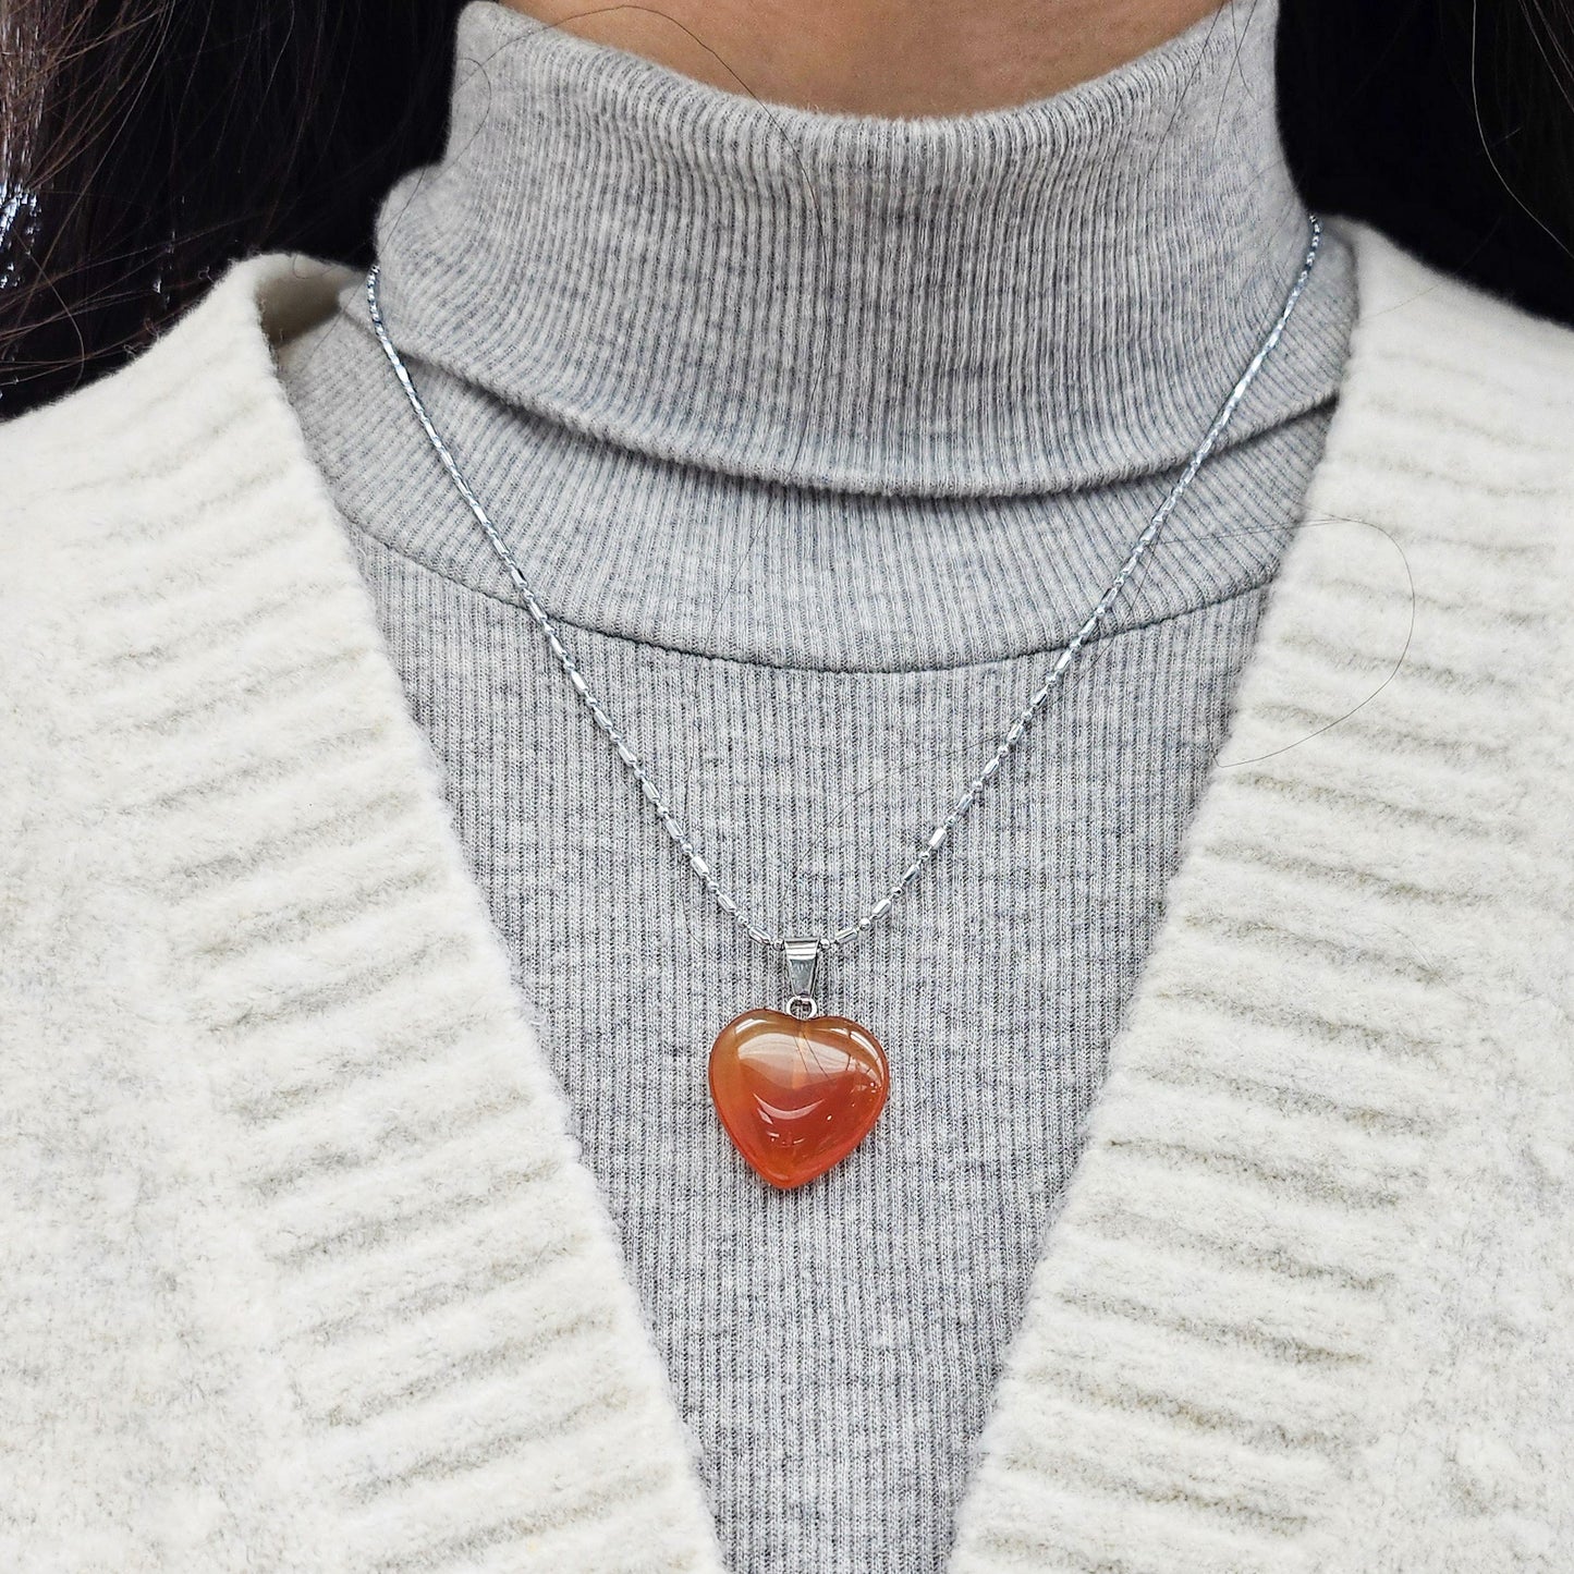
[[[1305,253],[1275,9],[1026,105],[880,118],[466,6],[449,148],[384,203],[379,294],[541,604],[834,671],[1069,637]],[[1352,302],[1330,228],[1133,619],[1270,578]],[[359,282],[290,390],[349,518],[499,589]]]

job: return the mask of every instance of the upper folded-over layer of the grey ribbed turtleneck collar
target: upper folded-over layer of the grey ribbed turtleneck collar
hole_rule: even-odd
[[[389,316],[510,405],[710,471],[960,496],[1160,469],[1305,246],[1275,11],[1236,0],[1053,98],[886,120],[472,0],[447,151],[382,209]],[[1239,430],[1308,376],[1270,364]]]

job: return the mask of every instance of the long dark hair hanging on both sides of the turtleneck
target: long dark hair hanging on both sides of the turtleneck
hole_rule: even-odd
[[[0,416],[134,354],[224,271],[365,264],[436,157],[461,0],[0,0]],[[1308,200],[1574,321],[1574,0],[1283,0]]]

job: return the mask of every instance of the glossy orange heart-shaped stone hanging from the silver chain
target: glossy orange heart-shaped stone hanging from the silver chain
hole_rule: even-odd
[[[880,1119],[891,1069],[848,1017],[746,1011],[716,1034],[710,1096],[733,1146],[789,1192],[845,1158]]]

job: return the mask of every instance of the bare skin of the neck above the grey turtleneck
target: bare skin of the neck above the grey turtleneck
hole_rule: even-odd
[[[965,115],[1102,76],[1218,0],[504,0],[762,102],[858,115]]]

